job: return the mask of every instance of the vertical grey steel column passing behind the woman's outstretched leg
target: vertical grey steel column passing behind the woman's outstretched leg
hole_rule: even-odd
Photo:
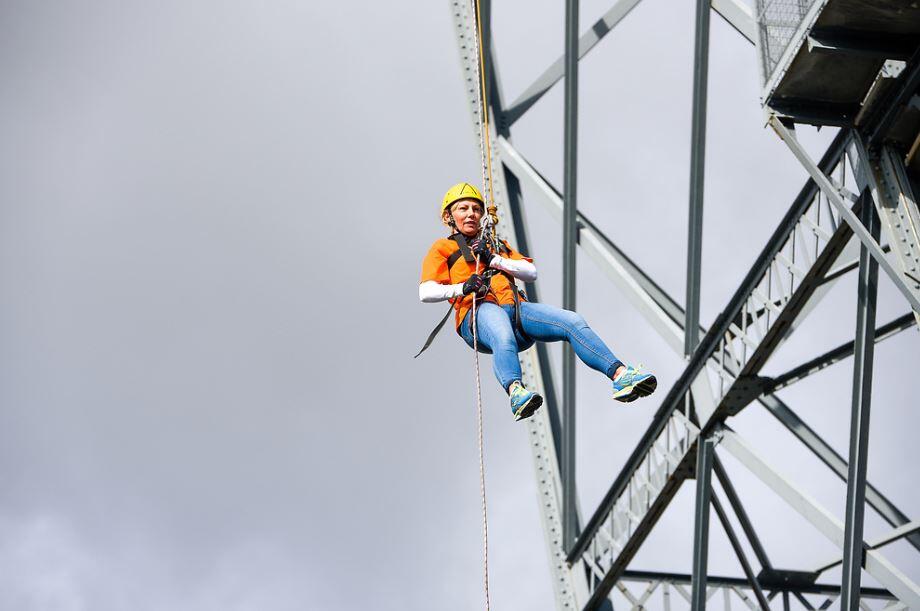
[[[578,144],[578,0],[565,3],[565,167],[562,219],[562,307],[575,309]],[[575,351],[562,344],[562,539],[569,550],[575,524]]]

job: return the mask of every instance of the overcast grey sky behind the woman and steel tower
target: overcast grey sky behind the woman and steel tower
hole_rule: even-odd
[[[583,27],[608,4],[583,0]],[[645,0],[581,63],[579,205],[678,301],[692,4]],[[507,99],[562,52],[563,12],[495,2]],[[704,324],[805,180],[763,127],[753,47],[712,28]],[[445,332],[411,359],[442,313],[416,292],[439,200],[479,181],[447,0],[6,0],[0,74],[0,609],[481,606],[472,353]],[[557,185],[561,94],[513,133]],[[832,137],[802,134],[815,156]],[[527,195],[527,254],[558,304],[561,228]],[[683,363],[583,256],[578,271],[579,311],[661,386],[626,407],[580,367],[590,513]],[[880,284],[883,323],[907,305]],[[854,323],[850,275],[765,373]],[[918,345],[878,346],[869,462],[912,517]],[[490,369],[493,607],[548,611],[525,428]],[[781,393],[842,454],[851,376],[846,361]],[[843,515],[844,484],[761,407],[731,424]],[[775,565],[835,556],[726,463]],[[685,486],[632,568],[689,572],[692,501]],[[866,528],[888,527],[870,512]],[[885,554],[920,580],[906,543]],[[740,575],[715,522],[710,567]]]

